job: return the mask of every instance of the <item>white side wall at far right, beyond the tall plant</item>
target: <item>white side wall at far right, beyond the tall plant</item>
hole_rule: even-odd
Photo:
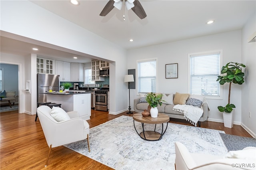
[[[256,32],[256,14],[242,29],[242,63],[246,65],[245,83],[242,88],[242,126],[256,137],[256,42],[248,38]],[[251,118],[249,112],[252,113]]]

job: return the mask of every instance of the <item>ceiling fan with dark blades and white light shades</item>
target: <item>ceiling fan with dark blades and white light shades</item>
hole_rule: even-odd
[[[122,4],[126,6],[127,10],[132,9],[140,19],[146,18],[147,14],[138,0],[109,0],[100,16],[106,16],[114,7],[121,10]]]

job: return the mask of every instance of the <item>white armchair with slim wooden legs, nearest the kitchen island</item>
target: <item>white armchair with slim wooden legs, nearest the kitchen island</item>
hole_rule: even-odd
[[[37,114],[42,126],[46,142],[49,146],[49,154],[45,166],[47,166],[48,159],[52,148],[69,144],[87,138],[89,145],[89,131],[90,127],[86,120],[79,117],[78,112],[68,112],[70,120],[57,122],[52,118],[50,112],[52,109],[48,106],[40,106],[37,108]]]

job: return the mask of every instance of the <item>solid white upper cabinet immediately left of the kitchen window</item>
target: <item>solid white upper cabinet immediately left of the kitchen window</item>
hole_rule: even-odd
[[[71,63],[71,81],[84,81],[84,64]]]

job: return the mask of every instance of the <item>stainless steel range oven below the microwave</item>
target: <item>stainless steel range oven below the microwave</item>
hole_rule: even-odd
[[[103,85],[101,90],[94,91],[94,109],[108,111],[108,91],[109,85]]]

